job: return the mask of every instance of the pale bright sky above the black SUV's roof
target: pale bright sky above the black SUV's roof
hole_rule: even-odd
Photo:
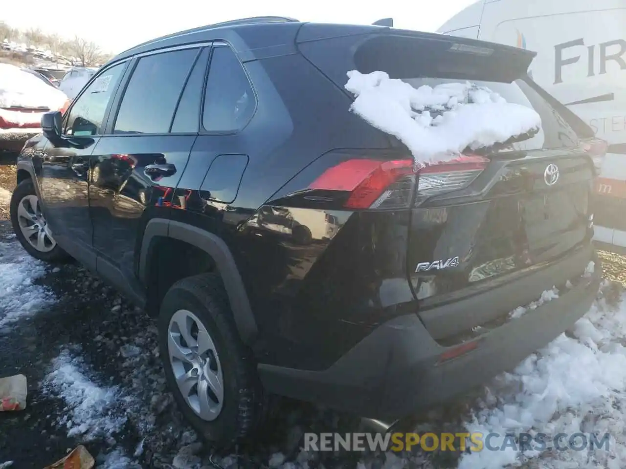
[[[300,21],[370,24],[393,18],[397,28],[435,31],[475,0],[106,0],[101,2],[9,1],[0,20],[72,38],[78,34],[118,53],[138,43],[249,16],[289,16]]]

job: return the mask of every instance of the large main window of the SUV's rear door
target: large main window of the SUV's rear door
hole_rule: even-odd
[[[139,59],[121,100],[113,133],[167,133],[198,49]]]

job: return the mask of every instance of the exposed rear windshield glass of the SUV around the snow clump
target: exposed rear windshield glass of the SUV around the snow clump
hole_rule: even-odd
[[[443,83],[463,83],[463,80],[453,78],[409,78],[403,79],[414,88],[428,85],[435,87]],[[500,83],[497,81],[472,80],[471,83],[485,86],[491,91],[500,94],[508,103],[521,104],[535,109],[541,116],[541,129],[538,133],[530,136],[520,136],[511,145],[514,150],[533,150],[541,148],[562,148],[578,144],[578,135],[572,126],[565,120],[565,116],[559,113],[548,101],[543,99],[535,89],[526,83],[524,79],[516,79],[513,83]],[[558,106],[558,103],[555,103]],[[431,112],[435,114],[437,111]],[[510,151],[511,148],[506,148]]]

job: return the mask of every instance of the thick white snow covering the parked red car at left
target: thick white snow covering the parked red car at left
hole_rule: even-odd
[[[46,106],[60,109],[66,99],[63,91],[48,86],[36,76],[16,66],[0,64],[0,108]]]

